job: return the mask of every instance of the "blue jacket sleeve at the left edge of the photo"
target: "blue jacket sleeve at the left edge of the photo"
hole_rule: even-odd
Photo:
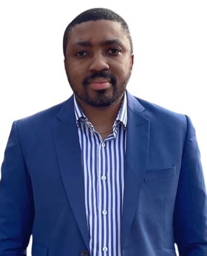
[[[13,123],[5,149],[0,181],[0,255],[26,255],[32,232],[34,207],[28,174]]]

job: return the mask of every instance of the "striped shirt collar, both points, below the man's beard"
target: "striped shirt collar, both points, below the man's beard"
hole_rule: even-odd
[[[81,118],[81,119],[87,121],[88,118],[84,115],[82,109],[80,108],[75,95],[73,96],[73,99],[74,99],[74,113],[75,113],[75,116],[76,116],[76,123],[77,123],[77,126],[79,127],[78,120]],[[119,113],[117,115],[117,118],[116,118],[115,122],[116,123],[117,122],[122,122],[124,124],[124,128],[126,128],[126,123],[127,123],[127,97],[126,97],[126,92],[124,93],[123,100],[122,100],[122,105],[120,106],[120,110],[119,110]]]

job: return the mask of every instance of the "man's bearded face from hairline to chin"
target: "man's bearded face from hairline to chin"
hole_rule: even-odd
[[[106,107],[122,98],[131,75],[133,55],[119,22],[82,22],[68,36],[65,70],[79,101]]]

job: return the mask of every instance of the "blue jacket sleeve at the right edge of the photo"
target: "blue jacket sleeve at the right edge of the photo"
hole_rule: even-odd
[[[187,133],[174,211],[174,236],[180,256],[207,255],[207,199],[195,130]]]

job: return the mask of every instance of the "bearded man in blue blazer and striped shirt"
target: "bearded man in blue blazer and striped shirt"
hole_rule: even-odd
[[[207,255],[206,192],[188,117],[126,92],[133,44],[108,9],[64,35],[74,95],[13,123],[0,184],[0,255]]]

